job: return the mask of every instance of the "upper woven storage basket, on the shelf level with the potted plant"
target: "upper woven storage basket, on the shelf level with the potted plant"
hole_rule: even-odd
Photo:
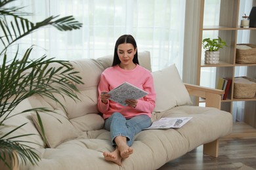
[[[256,63],[256,45],[255,44],[236,44],[249,46],[251,49],[241,50],[236,48],[236,63]]]

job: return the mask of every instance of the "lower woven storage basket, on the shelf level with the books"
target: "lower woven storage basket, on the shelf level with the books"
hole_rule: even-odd
[[[236,78],[244,78],[249,80],[250,82],[254,82],[251,84],[238,82]],[[240,79],[241,80],[241,79]],[[256,80],[254,78],[249,78],[247,76],[235,77],[234,80],[234,98],[253,98],[255,97],[256,92]]]

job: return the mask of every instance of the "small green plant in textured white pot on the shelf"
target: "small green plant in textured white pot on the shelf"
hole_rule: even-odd
[[[226,46],[226,42],[218,37],[218,39],[203,39],[203,49],[205,49],[204,62],[209,64],[219,63],[219,49]]]

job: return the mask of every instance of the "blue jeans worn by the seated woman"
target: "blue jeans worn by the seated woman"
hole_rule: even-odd
[[[116,145],[114,139],[117,136],[126,137],[127,145],[131,146],[135,135],[150,125],[151,119],[147,115],[138,115],[131,119],[126,119],[121,113],[114,112],[110,118],[105,120],[104,127],[110,131],[113,146]]]

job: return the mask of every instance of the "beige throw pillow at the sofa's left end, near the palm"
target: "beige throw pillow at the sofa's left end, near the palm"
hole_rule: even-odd
[[[54,110],[55,112],[39,112],[39,116],[43,122],[43,129],[45,130],[46,144],[50,148],[55,148],[60,143],[75,139],[77,131],[70,123],[68,117],[62,110]],[[32,113],[32,119],[35,127],[42,135],[41,127],[35,112]]]

